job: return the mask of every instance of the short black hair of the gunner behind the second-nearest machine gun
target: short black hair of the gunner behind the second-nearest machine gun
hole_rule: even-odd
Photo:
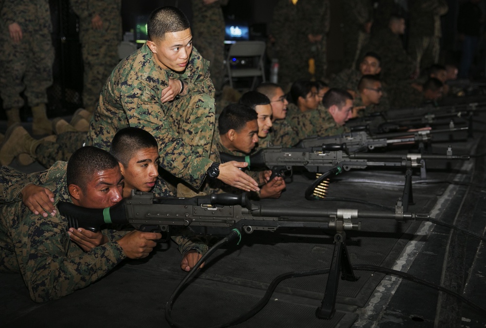
[[[257,112],[250,107],[239,103],[229,104],[219,115],[219,134],[223,135],[229,130],[240,131],[245,127],[247,122],[256,120],[257,118]]]

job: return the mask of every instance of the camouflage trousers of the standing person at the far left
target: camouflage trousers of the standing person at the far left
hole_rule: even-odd
[[[47,103],[52,85],[54,48],[50,33],[24,33],[13,43],[8,33],[0,34],[0,90],[3,108],[20,108],[24,95],[30,106]]]

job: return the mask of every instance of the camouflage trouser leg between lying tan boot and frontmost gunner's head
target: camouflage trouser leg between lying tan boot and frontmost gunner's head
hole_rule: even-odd
[[[35,149],[37,162],[46,168],[57,161],[67,162],[72,153],[83,147],[86,132],[63,132],[56,138],[56,142],[44,141]]]

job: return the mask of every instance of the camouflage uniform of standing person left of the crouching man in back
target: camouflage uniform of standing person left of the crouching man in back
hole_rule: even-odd
[[[343,19],[343,67],[356,67],[361,48],[368,42],[364,25],[373,21],[373,6],[369,0],[341,0]]]

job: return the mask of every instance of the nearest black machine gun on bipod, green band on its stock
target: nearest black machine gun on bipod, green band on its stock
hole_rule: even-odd
[[[154,197],[135,192],[119,204],[106,209],[86,209],[68,202],[58,203],[59,212],[68,218],[69,228],[98,231],[103,224],[131,224],[140,231],[164,232],[171,226],[185,226],[197,233],[226,234],[237,229],[274,231],[278,228],[311,228],[335,230],[334,253],[322,305],[316,315],[332,318],[335,312],[338,277],[356,281],[346,248],[345,230],[359,230],[357,219],[383,218],[395,220],[427,220],[428,214],[404,213],[402,207],[393,212],[352,209],[309,209],[263,207],[249,201],[246,194],[212,194],[192,198]]]

